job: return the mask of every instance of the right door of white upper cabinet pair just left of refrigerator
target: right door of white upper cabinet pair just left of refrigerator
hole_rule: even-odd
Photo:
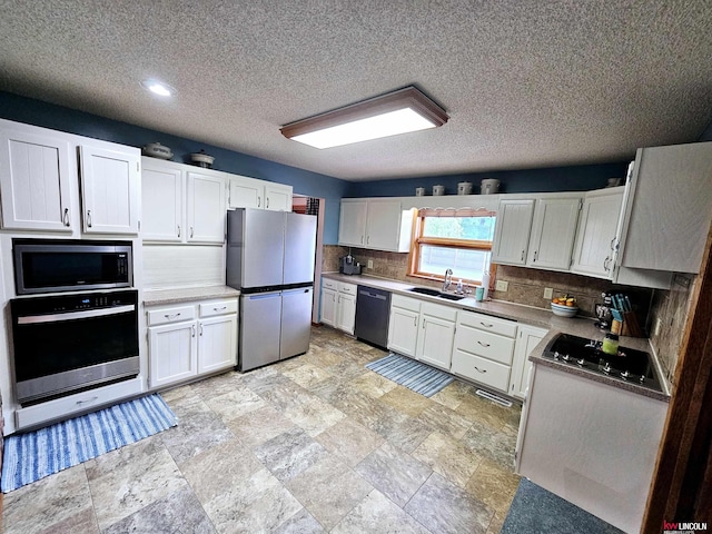
[[[225,178],[188,172],[189,243],[225,241]]]

